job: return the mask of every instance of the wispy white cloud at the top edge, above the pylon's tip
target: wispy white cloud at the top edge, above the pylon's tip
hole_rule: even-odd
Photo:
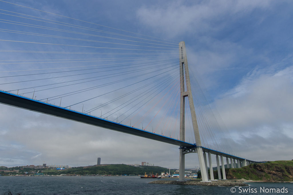
[[[168,38],[182,32],[200,34],[223,28],[225,15],[230,20],[256,8],[268,9],[272,1],[201,1],[190,5],[182,1],[143,6],[137,10],[139,21]],[[213,21],[212,21],[213,20]],[[227,18],[226,18],[227,20]],[[212,21],[212,22],[211,22]]]

